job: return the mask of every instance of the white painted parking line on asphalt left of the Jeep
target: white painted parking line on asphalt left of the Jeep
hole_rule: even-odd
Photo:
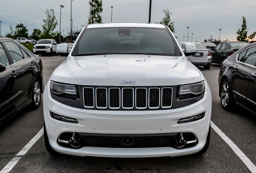
[[[23,149],[15,156],[13,159],[0,171],[0,173],[8,173],[12,168],[19,162],[21,157],[23,157],[29,149],[36,143],[36,141],[43,135],[43,128],[27,143]]]

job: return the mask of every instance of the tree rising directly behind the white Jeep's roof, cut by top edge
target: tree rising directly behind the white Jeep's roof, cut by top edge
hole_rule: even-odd
[[[90,17],[88,19],[88,24],[93,24],[93,23],[101,23],[101,12],[103,11],[102,8],[102,0],[90,0],[89,1],[90,5]]]

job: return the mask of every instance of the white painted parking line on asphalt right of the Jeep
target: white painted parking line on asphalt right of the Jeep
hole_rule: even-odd
[[[219,129],[212,121],[211,127],[213,130],[218,133],[218,135],[229,145],[229,147],[235,152],[235,154],[244,162],[244,164],[250,169],[252,173],[256,173],[256,166],[248,159],[248,157],[227,137],[221,129]]]

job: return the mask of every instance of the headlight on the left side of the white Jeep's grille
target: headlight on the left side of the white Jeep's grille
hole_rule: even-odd
[[[72,84],[62,84],[51,81],[50,90],[51,93],[60,97],[67,97],[67,95],[76,96],[76,86]]]

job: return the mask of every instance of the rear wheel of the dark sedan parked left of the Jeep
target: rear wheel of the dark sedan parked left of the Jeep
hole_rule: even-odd
[[[36,78],[33,84],[31,107],[33,109],[37,109],[40,106],[40,103],[41,103],[41,84],[39,80]]]

